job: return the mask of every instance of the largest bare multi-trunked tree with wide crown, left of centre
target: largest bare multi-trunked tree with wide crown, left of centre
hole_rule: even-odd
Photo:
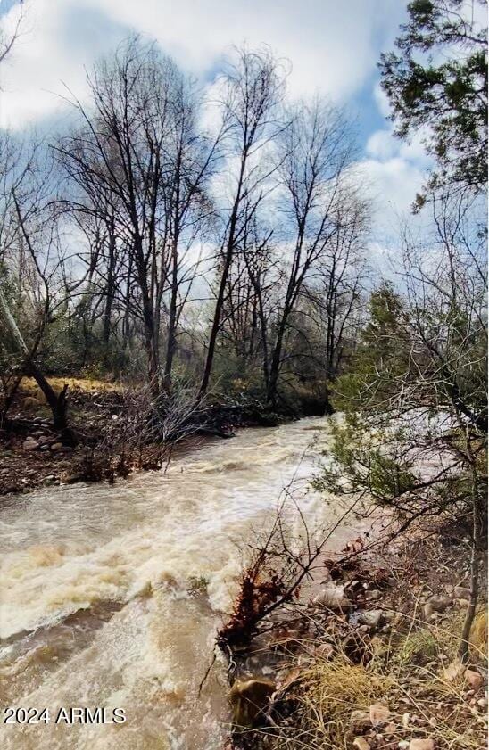
[[[127,286],[126,294],[112,288],[111,278],[107,286],[142,324],[148,381],[156,398],[165,294],[173,290],[169,380],[182,283],[179,243],[186,230],[195,231],[193,211],[204,202],[214,151],[195,134],[188,82],[154,45],[129,39],[112,60],[95,66],[89,84],[91,108],[74,101],[84,125],[63,138],[56,151],[81,191],[72,207],[102,214],[109,249],[119,241],[125,255],[126,275],[134,286]]]

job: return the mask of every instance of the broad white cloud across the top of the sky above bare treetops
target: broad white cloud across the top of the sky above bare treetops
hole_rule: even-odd
[[[6,14],[9,23],[15,8]],[[389,0],[29,0],[24,33],[2,70],[1,120],[52,115],[61,81],[85,91],[83,66],[129,30],[156,38],[186,70],[210,75],[229,45],[267,43],[293,64],[294,95],[346,101],[375,70],[378,35],[399,16]]]

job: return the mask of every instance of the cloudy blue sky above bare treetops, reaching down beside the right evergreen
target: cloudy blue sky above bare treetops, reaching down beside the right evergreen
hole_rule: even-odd
[[[377,61],[405,18],[404,0],[25,0],[21,38],[1,70],[0,125],[58,128],[63,84],[83,99],[85,70],[121,38],[155,38],[203,85],[230,45],[267,43],[292,63],[292,96],[326,95],[357,122],[361,169],[377,201],[381,247],[409,210],[427,163],[385,119]],[[4,29],[16,0],[0,0]]]

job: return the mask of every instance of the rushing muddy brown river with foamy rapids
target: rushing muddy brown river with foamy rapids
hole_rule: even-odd
[[[245,540],[281,490],[324,513],[307,478],[325,424],[245,430],[166,474],[49,488],[1,510],[0,704],[48,710],[46,723],[2,724],[4,748],[222,748],[223,664],[197,697],[215,630]],[[61,706],[105,707],[107,721],[122,708],[127,721],[56,723]]]

